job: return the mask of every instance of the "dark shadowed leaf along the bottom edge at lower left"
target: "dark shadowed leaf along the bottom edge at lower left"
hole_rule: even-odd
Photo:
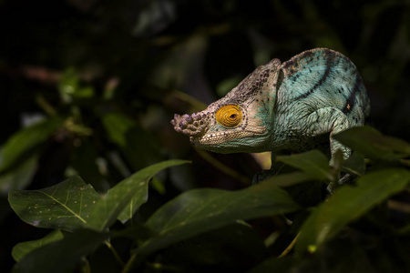
[[[75,272],[80,258],[94,251],[108,238],[108,233],[79,229],[61,240],[34,249],[15,264],[12,272]]]

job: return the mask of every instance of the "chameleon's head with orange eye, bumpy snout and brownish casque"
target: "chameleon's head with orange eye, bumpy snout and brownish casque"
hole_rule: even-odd
[[[268,150],[279,60],[259,66],[226,96],[192,115],[175,115],[174,129],[218,153]]]

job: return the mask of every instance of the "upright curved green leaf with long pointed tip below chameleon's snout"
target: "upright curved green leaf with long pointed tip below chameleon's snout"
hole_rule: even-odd
[[[147,202],[149,179],[159,171],[172,166],[189,163],[185,160],[168,160],[146,167],[131,177],[118,183],[101,197],[88,220],[87,227],[105,230],[118,218],[125,222],[131,218],[138,207]]]

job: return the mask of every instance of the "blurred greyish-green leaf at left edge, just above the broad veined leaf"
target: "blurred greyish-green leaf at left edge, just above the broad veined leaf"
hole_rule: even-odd
[[[26,158],[20,165],[0,175],[0,191],[6,195],[10,190],[24,189],[30,184],[37,167],[38,154]]]

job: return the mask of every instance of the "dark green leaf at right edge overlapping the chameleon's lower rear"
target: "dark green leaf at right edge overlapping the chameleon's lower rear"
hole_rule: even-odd
[[[398,160],[410,156],[409,143],[392,136],[383,136],[370,126],[354,127],[333,137],[370,158]]]

